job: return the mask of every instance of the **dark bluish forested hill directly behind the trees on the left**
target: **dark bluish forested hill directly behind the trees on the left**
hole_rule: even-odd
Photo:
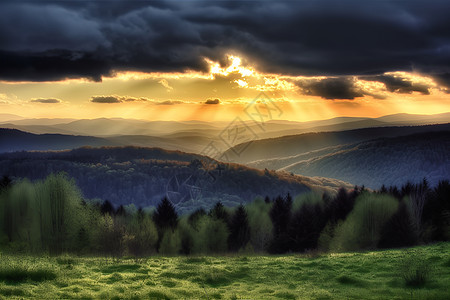
[[[180,211],[211,207],[218,200],[234,206],[257,196],[297,195],[311,189],[332,193],[349,187],[337,180],[218,164],[204,156],[159,148],[4,153],[0,170],[0,175],[31,180],[63,171],[75,179],[87,198],[109,200],[115,206],[146,207],[168,196]]]

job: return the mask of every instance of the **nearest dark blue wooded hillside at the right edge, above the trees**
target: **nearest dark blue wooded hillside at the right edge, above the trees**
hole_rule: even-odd
[[[305,176],[327,176],[378,189],[427,178],[450,178],[450,130],[328,147],[292,157],[249,163]]]

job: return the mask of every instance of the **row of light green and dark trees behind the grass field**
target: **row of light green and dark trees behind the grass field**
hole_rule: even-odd
[[[341,188],[289,194],[234,208],[217,202],[178,215],[164,197],[153,210],[83,199],[64,173],[0,181],[5,251],[145,257],[154,254],[289,253],[408,247],[450,240],[450,183]]]

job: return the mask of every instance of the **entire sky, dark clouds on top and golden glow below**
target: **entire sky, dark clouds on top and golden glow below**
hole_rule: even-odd
[[[6,0],[0,113],[226,121],[267,103],[272,118],[295,121],[449,112],[449,14],[436,0]]]

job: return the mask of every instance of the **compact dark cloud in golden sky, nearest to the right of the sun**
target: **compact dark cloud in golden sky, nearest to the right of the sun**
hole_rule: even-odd
[[[305,95],[319,96],[324,99],[348,99],[364,96],[355,87],[352,78],[327,78],[322,80],[307,80],[297,83]]]

